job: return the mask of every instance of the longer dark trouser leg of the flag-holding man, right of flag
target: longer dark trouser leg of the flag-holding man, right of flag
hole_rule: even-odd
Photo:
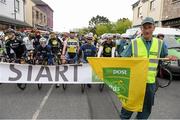
[[[147,84],[143,111],[137,114],[136,116],[137,119],[149,118],[151,114],[152,106],[154,105],[154,95],[155,95],[155,84]]]

